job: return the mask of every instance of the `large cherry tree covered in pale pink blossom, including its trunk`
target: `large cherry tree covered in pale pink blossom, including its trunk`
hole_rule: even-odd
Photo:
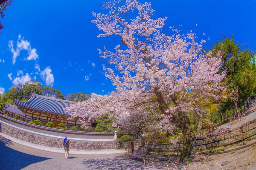
[[[113,51],[99,49],[106,77],[112,80],[116,91],[108,95],[91,94],[91,98],[67,108],[72,117],[84,124],[105,113],[119,120],[157,108],[170,123],[183,133],[181,159],[195,154],[195,133],[187,113],[200,114],[199,100],[219,96],[212,91],[222,91],[221,80],[225,74],[218,72],[220,52],[211,57],[202,52],[201,40],[190,31],[181,34],[171,27],[173,34],[165,34],[167,17],[154,18],[151,3],[137,0],[112,0],[103,4],[108,14],[96,14],[92,22],[102,34],[98,37],[117,36]],[[202,101],[201,101],[202,102]],[[89,119],[84,119],[84,118]]]

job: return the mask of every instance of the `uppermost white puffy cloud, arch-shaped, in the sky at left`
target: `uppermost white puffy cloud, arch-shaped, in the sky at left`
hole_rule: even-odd
[[[9,48],[12,52],[12,64],[15,64],[16,58],[20,55],[21,50],[27,50],[28,51],[28,57],[26,60],[36,60],[38,59],[38,54],[36,53],[36,49],[31,49],[30,42],[28,40],[24,40],[21,38],[21,35],[18,36],[17,40],[17,47],[16,50],[13,47],[13,40],[9,41]]]

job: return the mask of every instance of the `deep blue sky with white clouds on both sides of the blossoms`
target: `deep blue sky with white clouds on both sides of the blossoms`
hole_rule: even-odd
[[[102,71],[97,48],[120,43],[116,37],[97,38],[92,11],[104,0],[13,0],[0,33],[0,91],[27,79],[38,79],[66,94],[106,94],[113,91]],[[140,1],[145,2],[145,0]],[[255,0],[146,0],[154,17],[168,17],[166,27],[193,30],[209,45],[233,33],[235,40],[256,45]],[[181,26],[180,26],[181,25]],[[197,26],[196,26],[197,25]],[[206,35],[203,36],[203,33]],[[245,46],[245,45],[244,45]],[[19,54],[19,55],[18,55]],[[16,60],[13,56],[17,56]],[[39,69],[40,67],[40,69]],[[102,90],[104,92],[102,92]]]

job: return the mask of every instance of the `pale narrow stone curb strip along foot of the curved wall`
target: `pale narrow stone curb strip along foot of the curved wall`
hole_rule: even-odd
[[[3,136],[6,139],[11,140],[12,142],[15,142],[17,144],[21,144],[26,147],[31,147],[38,150],[44,150],[48,152],[54,152],[54,153],[65,153],[64,147],[63,148],[57,148],[57,147],[49,147],[49,146],[43,146],[39,144],[33,144],[30,142],[25,142],[20,139],[16,139],[12,136],[6,135],[4,133],[0,133],[0,136]],[[72,150],[70,149],[70,154],[73,155],[105,155],[105,154],[119,154],[119,153],[127,153],[125,150],[116,150],[116,149],[106,149],[106,150]]]

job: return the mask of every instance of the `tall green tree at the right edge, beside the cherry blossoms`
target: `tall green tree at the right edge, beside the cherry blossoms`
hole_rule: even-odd
[[[223,65],[221,71],[226,71],[227,77],[224,81],[230,85],[231,89],[238,89],[239,99],[245,108],[245,102],[254,94],[256,88],[256,65],[255,57],[248,49],[242,49],[232,38],[224,36],[221,41],[212,45],[212,56],[216,56],[221,50]],[[230,100],[222,105],[225,108],[234,107],[233,101]]]

